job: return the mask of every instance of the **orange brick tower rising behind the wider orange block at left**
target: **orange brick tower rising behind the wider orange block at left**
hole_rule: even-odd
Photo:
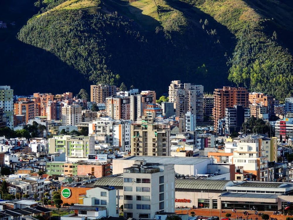
[[[34,93],[34,99],[36,103],[35,116],[47,116],[47,106],[49,101],[54,100],[54,95],[51,93]]]

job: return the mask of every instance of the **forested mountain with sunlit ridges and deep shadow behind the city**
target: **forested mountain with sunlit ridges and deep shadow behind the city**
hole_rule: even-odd
[[[29,82],[29,92],[124,82],[163,94],[181,79],[206,91],[234,84],[279,99],[292,94],[289,0],[44,0],[35,6],[40,11],[17,34],[26,48],[13,54],[21,65],[4,69],[7,81],[14,71],[14,79],[23,77],[19,84]]]

